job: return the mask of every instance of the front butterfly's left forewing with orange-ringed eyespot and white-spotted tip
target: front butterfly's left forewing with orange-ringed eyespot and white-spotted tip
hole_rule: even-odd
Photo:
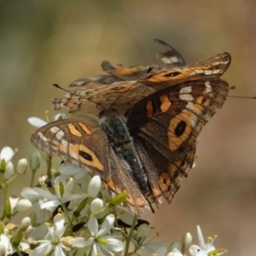
[[[52,156],[108,179],[108,142],[96,121],[62,119],[44,125],[31,137],[32,144]],[[107,168],[107,170],[106,170]]]

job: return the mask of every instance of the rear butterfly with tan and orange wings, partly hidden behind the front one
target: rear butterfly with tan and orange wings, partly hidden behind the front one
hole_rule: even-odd
[[[162,53],[166,55],[164,59],[168,59],[170,50]],[[176,52],[172,53],[176,55]],[[175,60],[181,60],[180,58]],[[183,60],[183,59],[182,59]],[[181,66],[184,61],[176,61],[178,67],[157,68],[155,66],[150,73],[147,73],[148,67],[124,67],[119,66],[114,68],[108,62],[108,68],[104,66],[104,70],[110,75],[97,75],[87,79],[75,80],[70,87],[75,87],[75,90],[67,93],[63,99],[54,99],[52,101],[55,110],[68,109],[70,113],[92,113],[97,115],[99,109],[95,103],[104,105],[105,108],[110,108],[113,104],[114,108],[118,108],[119,113],[125,113],[128,108],[131,108],[136,102],[139,102],[144,97],[153,94],[158,90],[170,87],[173,84],[183,83],[185,81],[198,80],[203,78],[218,79],[230,66],[230,54],[227,52],[213,56],[207,61],[200,62],[193,66]],[[111,72],[109,71],[111,70]],[[125,71],[124,71],[125,70]],[[137,72],[135,72],[135,70]],[[120,80],[120,73],[122,79]],[[143,75],[143,77],[142,77]],[[135,79],[135,80],[129,80]],[[137,82],[138,81],[138,82]],[[133,84],[136,84],[133,86]],[[129,90],[129,91],[128,91]],[[123,94],[121,97],[119,97]],[[119,98],[118,98],[119,97]],[[87,98],[90,101],[84,101]]]

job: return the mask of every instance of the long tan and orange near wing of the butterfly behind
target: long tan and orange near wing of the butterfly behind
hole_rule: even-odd
[[[97,86],[82,86],[82,88],[68,92],[64,99],[54,99],[55,110],[68,109],[69,112],[98,113],[95,103],[109,108],[119,109],[119,113],[125,113],[135,103],[144,97],[154,94],[158,90],[171,87],[173,84],[189,80],[199,80],[206,77],[218,79],[229,67],[230,55],[221,53],[191,67],[173,67],[164,69],[158,73],[148,74],[139,81],[115,82],[113,84],[97,84]],[[103,78],[104,79],[104,78]],[[124,93],[118,100],[120,94]],[[116,101],[115,101],[116,100]],[[113,103],[114,102],[114,103]]]

